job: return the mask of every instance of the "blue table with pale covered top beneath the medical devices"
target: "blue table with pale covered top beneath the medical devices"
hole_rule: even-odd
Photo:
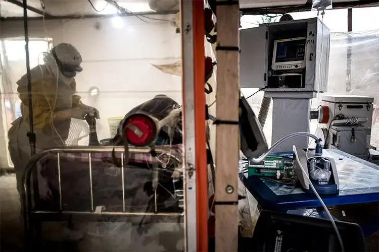
[[[336,196],[321,195],[325,205],[379,201],[379,165],[340,150],[327,151],[336,161],[340,193]],[[321,206],[315,195],[305,193],[297,184],[282,184],[260,176],[248,176],[247,173],[240,173],[240,178],[264,209],[287,211]]]

